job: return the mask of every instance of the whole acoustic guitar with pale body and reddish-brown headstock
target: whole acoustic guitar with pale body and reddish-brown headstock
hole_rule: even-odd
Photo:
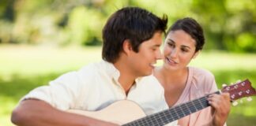
[[[220,92],[228,92],[232,102],[239,98],[256,95],[256,91],[254,87],[251,87],[249,80],[224,86],[221,91],[213,93],[220,94]],[[149,116],[146,116],[141,107],[135,102],[128,100],[114,102],[99,111],[70,109],[68,112],[122,124],[123,126],[162,126],[210,106],[207,101],[208,96],[205,95],[204,97],[185,102],[179,106],[174,106]]]

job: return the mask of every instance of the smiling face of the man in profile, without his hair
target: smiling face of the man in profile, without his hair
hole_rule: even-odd
[[[139,51],[132,52],[129,57],[129,65],[136,76],[149,76],[154,69],[156,60],[162,56],[160,54],[160,45],[162,43],[162,33],[155,32],[152,39],[146,40],[139,46]]]

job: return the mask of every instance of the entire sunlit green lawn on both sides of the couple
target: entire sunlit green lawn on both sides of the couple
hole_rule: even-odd
[[[31,46],[0,46],[0,124],[11,126],[9,116],[18,100],[34,87],[70,70],[100,61],[100,47],[54,49]],[[159,63],[160,65],[160,63]],[[202,52],[191,65],[209,69],[221,83],[250,79],[256,87],[256,54]],[[256,101],[232,107],[228,125],[255,125]]]

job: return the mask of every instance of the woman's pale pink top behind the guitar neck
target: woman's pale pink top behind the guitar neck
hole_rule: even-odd
[[[206,94],[217,91],[216,82],[211,72],[205,69],[189,67],[186,87],[174,106],[200,98]],[[179,119],[180,126],[199,126],[208,124],[213,120],[211,108],[207,107],[189,116]]]

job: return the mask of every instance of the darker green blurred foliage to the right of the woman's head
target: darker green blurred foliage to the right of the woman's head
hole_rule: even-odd
[[[191,10],[205,29],[206,48],[256,52],[256,1],[194,0]]]

